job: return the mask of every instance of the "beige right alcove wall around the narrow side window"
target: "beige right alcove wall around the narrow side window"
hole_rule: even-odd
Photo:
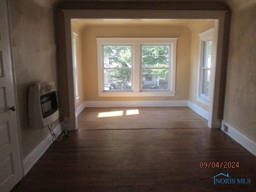
[[[191,38],[191,68],[190,68],[190,90],[189,100],[200,108],[209,111],[209,107],[196,100],[198,84],[198,65],[199,65],[199,36],[198,34],[214,27],[214,21],[209,21],[204,26],[192,30]]]

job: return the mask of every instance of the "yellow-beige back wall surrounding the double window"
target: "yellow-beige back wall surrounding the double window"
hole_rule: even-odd
[[[178,38],[175,97],[98,97],[97,42],[95,38]],[[84,99],[86,101],[188,100],[191,30],[176,26],[91,26],[83,30]]]

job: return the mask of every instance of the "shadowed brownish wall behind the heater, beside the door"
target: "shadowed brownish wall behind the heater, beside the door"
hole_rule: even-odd
[[[25,158],[49,134],[47,128],[28,125],[28,88],[46,80],[54,80],[57,87],[53,11],[33,0],[10,0],[10,24]]]

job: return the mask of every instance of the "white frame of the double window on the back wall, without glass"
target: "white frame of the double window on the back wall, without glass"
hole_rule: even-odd
[[[138,96],[175,96],[176,44],[178,38],[96,38],[98,56],[98,96],[99,97],[138,97]],[[104,50],[103,46],[132,46],[131,90],[104,90]],[[142,90],[141,47],[143,45],[169,45],[169,89]]]

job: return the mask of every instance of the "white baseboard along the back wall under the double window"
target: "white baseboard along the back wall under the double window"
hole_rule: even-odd
[[[187,107],[187,100],[161,101],[85,101],[86,107]]]

